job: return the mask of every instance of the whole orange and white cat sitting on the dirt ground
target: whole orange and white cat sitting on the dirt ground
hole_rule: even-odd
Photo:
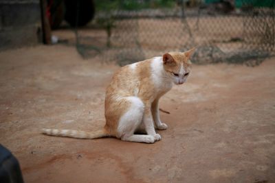
[[[114,136],[122,141],[155,143],[166,130],[159,119],[159,99],[173,84],[184,84],[190,74],[190,56],[195,48],[185,52],[168,52],[120,68],[107,87],[104,128],[95,132],[43,129],[43,134],[73,138],[102,138]],[[144,131],[146,134],[135,134]]]

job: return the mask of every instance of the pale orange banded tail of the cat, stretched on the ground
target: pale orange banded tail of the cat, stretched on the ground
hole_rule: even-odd
[[[42,133],[51,136],[67,136],[71,138],[102,138],[110,136],[108,132],[102,128],[102,130],[97,130],[94,132],[84,132],[78,130],[57,130],[57,129],[42,129]]]

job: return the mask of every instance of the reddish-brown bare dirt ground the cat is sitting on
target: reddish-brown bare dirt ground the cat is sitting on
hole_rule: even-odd
[[[0,142],[25,182],[275,182],[274,58],[194,65],[162,98],[168,129],[154,144],[41,134],[102,127],[118,68],[61,45],[0,52]]]

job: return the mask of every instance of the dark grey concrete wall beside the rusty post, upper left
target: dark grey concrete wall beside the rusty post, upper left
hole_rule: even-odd
[[[39,0],[0,0],[0,50],[36,45],[41,35]]]

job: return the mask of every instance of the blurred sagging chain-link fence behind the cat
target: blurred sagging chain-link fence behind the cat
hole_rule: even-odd
[[[192,62],[254,66],[275,53],[275,3],[261,2],[95,1],[94,21],[75,29],[76,47],[120,65],[197,47]]]

